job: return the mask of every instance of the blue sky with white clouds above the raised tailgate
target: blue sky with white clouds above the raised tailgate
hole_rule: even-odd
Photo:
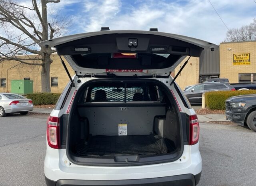
[[[228,28],[239,28],[256,17],[254,0],[211,2]],[[220,44],[227,32],[208,0],[61,0],[49,3],[48,8],[73,18],[68,34],[99,31],[101,26],[110,30],[158,28]]]

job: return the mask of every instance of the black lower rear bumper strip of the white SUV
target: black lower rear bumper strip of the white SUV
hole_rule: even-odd
[[[57,182],[45,177],[47,186],[195,186],[201,177],[199,174],[183,174],[161,178],[134,180],[58,180]]]

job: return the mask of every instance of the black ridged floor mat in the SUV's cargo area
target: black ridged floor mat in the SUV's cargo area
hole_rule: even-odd
[[[174,150],[174,149],[173,149]],[[91,136],[86,144],[76,148],[76,154],[86,155],[111,155],[111,154],[166,154],[165,140],[157,139],[154,135],[129,135],[129,136]]]

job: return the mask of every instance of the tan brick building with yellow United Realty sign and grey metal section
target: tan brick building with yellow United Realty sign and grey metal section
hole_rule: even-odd
[[[228,78],[230,83],[256,83],[256,41],[225,42],[214,51],[203,51],[200,58],[190,58],[176,82],[184,89],[217,77]]]

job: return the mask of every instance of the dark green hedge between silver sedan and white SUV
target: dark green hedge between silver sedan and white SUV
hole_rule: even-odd
[[[26,97],[32,99],[34,105],[55,105],[60,93],[33,93],[27,94]]]

